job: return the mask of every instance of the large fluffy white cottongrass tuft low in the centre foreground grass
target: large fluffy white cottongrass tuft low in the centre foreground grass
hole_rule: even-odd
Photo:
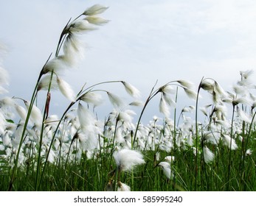
[[[114,153],[114,160],[120,171],[131,171],[134,166],[145,163],[140,152],[131,149],[121,149]]]

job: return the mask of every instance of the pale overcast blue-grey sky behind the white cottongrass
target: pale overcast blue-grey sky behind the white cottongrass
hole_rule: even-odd
[[[240,78],[239,71],[255,70],[253,0],[0,2],[0,40],[9,50],[4,68],[10,74],[10,96],[30,99],[42,66],[55,53],[63,26],[93,4],[109,7],[100,16],[110,22],[85,36],[85,60],[80,68],[63,75],[75,91],[84,83],[120,79],[141,90],[145,100],[156,80],[161,86],[186,79],[197,87],[202,77],[211,77],[231,90]],[[106,88],[128,99],[122,87]],[[58,92],[52,96],[51,112],[61,113],[68,101]],[[145,116],[158,113],[158,102],[156,98]],[[193,102],[181,92],[179,107],[189,104]],[[106,115],[111,109],[103,104],[99,111]]]

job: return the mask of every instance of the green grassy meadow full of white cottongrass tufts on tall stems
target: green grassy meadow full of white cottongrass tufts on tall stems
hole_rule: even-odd
[[[75,93],[63,79],[83,60],[83,36],[108,23],[99,16],[107,9],[96,4],[67,22],[30,100],[2,96],[7,74],[0,65],[0,191],[255,191],[252,71],[241,71],[230,91],[211,78],[196,89],[184,79],[170,80],[150,88],[145,101],[122,80]],[[122,86],[133,101],[105,90],[109,84]],[[53,90],[70,102],[61,116],[49,110]],[[181,94],[194,104],[178,110]],[[201,105],[202,98],[210,103]],[[162,117],[144,124],[152,99],[159,100]],[[103,101],[113,110],[99,119]]]

